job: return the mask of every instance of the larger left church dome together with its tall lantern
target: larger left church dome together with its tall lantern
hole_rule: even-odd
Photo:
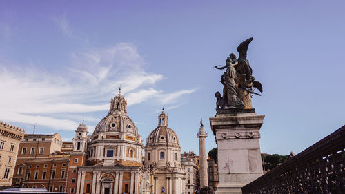
[[[103,117],[101,121],[95,127],[92,135],[97,133],[107,133],[107,132],[125,132],[138,135],[137,126],[130,117],[126,115],[127,113],[127,101],[124,96],[121,95],[121,88],[119,89],[119,94],[117,94],[110,101],[110,110],[106,117]]]

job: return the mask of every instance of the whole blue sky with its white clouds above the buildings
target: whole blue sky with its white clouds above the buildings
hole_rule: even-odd
[[[121,84],[146,139],[162,106],[182,151],[199,119],[217,146],[223,65],[254,37],[248,60],[263,153],[299,153],[344,125],[343,1],[1,1],[0,119],[32,133],[92,133]]]

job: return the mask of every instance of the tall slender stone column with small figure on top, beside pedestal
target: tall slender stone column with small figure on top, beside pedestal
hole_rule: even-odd
[[[206,137],[207,133],[202,124],[202,119],[200,120],[200,129],[197,133],[197,138],[199,138],[199,157],[200,157],[200,188],[208,186],[208,176],[207,176],[207,153],[206,153]]]

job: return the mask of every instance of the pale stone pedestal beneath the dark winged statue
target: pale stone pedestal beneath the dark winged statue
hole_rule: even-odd
[[[264,115],[255,109],[218,110],[210,125],[218,144],[216,194],[242,193],[242,186],[263,174],[259,130]]]

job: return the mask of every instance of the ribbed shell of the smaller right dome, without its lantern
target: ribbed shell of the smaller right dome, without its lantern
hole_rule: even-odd
[[[179,146],[179,138],[175,131],[168,128],[168,126],[158,126],[148,135],[145,146],[157,143],[176,144]]]

